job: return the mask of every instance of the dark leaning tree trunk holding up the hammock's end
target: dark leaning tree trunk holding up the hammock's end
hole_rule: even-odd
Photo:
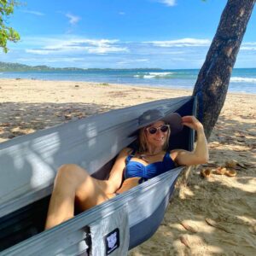
[[[207,53],[206,61],[198,74],[193,96],[199,95],[199,112],[207,138],[210,137],[223,108],[230,75],[255,1],[228,1]]]

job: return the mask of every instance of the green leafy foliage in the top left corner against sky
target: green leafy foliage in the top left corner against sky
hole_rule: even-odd
[[[12,15],[15,8],[14,0],[0,0],[0,47],[5,53],[8,52],[7,42],[17,42],[20,40],[20,35],[12,27],[7,26],[6,19]]]

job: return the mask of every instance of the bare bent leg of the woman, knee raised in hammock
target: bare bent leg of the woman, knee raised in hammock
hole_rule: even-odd
[[[73,218],[75,201],[79,209],[84,211],[111,197],[83,168],[72,164],[63,165],[55,177],[45,229]]]

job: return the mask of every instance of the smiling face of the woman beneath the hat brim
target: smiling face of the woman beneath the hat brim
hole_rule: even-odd
[[[162,148],[165,145],[166,139],[168,137],[168,131],[170,131],[170,128],[166,131],[161,131],[160,129],[157,129],[157,128],[160,128],[162,125],[165,125],[165,122],[158,121],[158,122],[155,122],[154,124],[148,126],[145,129],[148,145],[158,147],[158,148],[159,147]],[[151,134],[149,132],[150,128],[152,128],[152,127],[157,129],[157,131],[154,134]]]

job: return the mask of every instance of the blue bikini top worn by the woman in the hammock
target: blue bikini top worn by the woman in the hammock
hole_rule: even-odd
[[[133,161],[131,158],[135,155],[136,150],[133,150],[131,154],[126,157],[125,160],[125,179],[128,177],[143,177],[145,179],[155,177],[161,173],[174,169],[175,163],[170,157],[170,152],[166,152],[162,161],[154,162],[144,166],[142,163]]]

